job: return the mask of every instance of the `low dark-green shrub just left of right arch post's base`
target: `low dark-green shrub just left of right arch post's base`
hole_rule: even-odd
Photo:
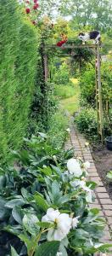
[[[97,135],[97,113],[92,108],[81,109],[81,113],[75,119],[79,131],[88,135]]]

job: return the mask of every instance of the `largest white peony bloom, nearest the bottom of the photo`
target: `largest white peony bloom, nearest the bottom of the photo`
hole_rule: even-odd
[[[49,208],[47,214],[42,217],[42,222],[48,222],[55,226],[48,230],[48,241],[61,241],[70,232],[72,218],[67,213]]]

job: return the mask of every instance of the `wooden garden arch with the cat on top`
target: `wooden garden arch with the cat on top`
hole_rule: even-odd
[[[102,102],[102,84],[101,84],[101,58],[100,46],[98,44],[66,44],[59,48],[57,45],[45,45],[42,47],[42,57],[44,66],[44,79],[48,81],[48,49],[90,49],[95,56],[95,81],[96,81],[96,106],[98,113],[98,136],[101,142],[104,142],[104,121],[103,121],[103,102]]]

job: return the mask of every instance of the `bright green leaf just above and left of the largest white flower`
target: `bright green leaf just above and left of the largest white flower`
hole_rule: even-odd
[[[36,203],[37,203],[38,207],[40,207],[43,211],[47,212],[47,210],[48,210],[48,203],[42,197],[42,195],[34,195],[34,198],[36,200]]]

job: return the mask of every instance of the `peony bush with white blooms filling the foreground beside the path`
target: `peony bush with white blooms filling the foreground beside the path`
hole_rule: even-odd
[[[49,137],[25,139],[14,166],[1,172],[0,254],[92,256],[108,252],[100,242],[104,220],[88,204],[96,183],[87,181],[89,163],[73,151],[52,147]]]

